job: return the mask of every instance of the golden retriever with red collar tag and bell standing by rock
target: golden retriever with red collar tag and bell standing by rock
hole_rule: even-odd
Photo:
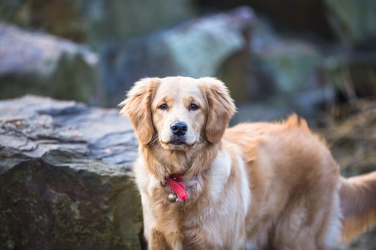
[[[376,224],[376,171],[345,179],[296,115],[227,128],[215,78],[146,78],[119,104],[150,250],[328,250]]]

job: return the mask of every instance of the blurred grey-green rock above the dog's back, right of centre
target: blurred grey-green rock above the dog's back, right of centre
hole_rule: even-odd
[[[259,19],[251,40],[251,50],[254,68],[269,75],[269,84],[273,85],[275,92],[293,94],[319,86],[317,71],[322,56],[314,44],[280,36],[267,22]]]

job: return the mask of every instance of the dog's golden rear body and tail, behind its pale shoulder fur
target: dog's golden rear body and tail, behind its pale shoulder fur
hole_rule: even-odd
[[[282,123],[240,124],[224,138],[240,146],[247,163],[255,194],[251,204],[257,204],[247,224],[248,231],[258,232],[257,246],[305,246],[312,234],[317,245],[306,249],[327,249],[335,247],[335,238],[348,242],[376,224],[376,171],[340,177],[325,141],[297,116]]]

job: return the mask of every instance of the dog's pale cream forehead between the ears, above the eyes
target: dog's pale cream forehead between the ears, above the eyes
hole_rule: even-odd
[[[182,99],[184,97],[203,96],[197,79],[189,77],[168,77],[161,79],[156,96],[168,96],[170,98]]]

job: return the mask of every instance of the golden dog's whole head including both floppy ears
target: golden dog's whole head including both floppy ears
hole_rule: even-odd
[[[215,78],[147,78],[135,83],[119,104],[142,145],[190,150],[220,141],[235,105]]]

